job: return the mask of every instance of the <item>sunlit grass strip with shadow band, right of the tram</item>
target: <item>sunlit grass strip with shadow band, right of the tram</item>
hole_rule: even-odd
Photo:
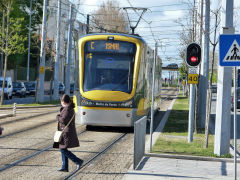
[[[153,153],[174,153],[182,155],[219,157],[214,154],[214,136],[209,135],[208,148],[204,148],[203,129],[194,134],[193,142],[188,143],[188,99],[182,95],[176,99],[168,121],[153,146]],[[230,154],[221,157],[231,157]]]

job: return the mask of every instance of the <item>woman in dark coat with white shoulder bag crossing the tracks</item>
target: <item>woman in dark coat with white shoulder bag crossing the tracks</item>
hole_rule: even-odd
[[[61,96],[60,114],[57,115],[58,120],[58,130],[63,130],[68,122],[72,119],[71,123],[63,131],[62,140],[59,143],[54,143],[54,148],[59,148],[62,154],[62,168],[58,171],[68,172],[68,159],[72,160],[76,165],[77,169],[83,163],[83,160],[75,156],[68,148],[74,148],[79,146],[79,141],[77,137],[76,127],[75,127],[75,115],[74,107],[75,104],[70,99],[69,95],[63,94]]]

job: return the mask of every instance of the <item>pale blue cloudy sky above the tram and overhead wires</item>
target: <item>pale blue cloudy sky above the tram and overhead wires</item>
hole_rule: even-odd
[[[97,10],[102,2],[107,0],[81,0],[80,11],[84,14],[91,14]],[[119,0],[119,7],[141,7],[148,8],[141,19],[136,33],[143,37],[147,44],[154,49],[155,42],[158,42],[158,55],[161,57],[163,66],[171,63],[181,65],[182,59],[179,52],[183,48],[180,45],[181,21],[185,26],[189,26],[189,2],[194,0]],[[198,0],[196,0],[196,6]],[[216,9],[221,5],[221,0],[211,0],[211,9]],[[240,34],[240,1],[234,0],[236,33]],[[138,11],[141,14],[141,11]],[[129,12],[130,19],[137,20],[139,14]],[[211,19],[213,16],[211,14]],[[211,23],[210,23],[211,24]],[[134,25],[134,24],[132,24]],[[213,23],[212,23],[213,25]],[[151,28],[150,28],[151,27]],[[210,46],[211,47],[211,46]]]

